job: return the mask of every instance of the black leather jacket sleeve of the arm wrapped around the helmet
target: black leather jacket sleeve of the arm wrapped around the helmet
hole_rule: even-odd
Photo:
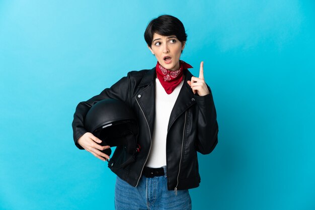
[[[73,140],[74,144],[79,149],[84,149],[77,143],[77,140],[87,133],[84,127],[84,120],[90,108],[100,100],[113,98],[122,101],[127,100],[127,92],[129,88],[129,73],[127,76],[121,78],[118,82],[113,84],[110,88],[104,89],[99,95],[90,98],[87,101],[80,102],[75,109],[72,122]]]

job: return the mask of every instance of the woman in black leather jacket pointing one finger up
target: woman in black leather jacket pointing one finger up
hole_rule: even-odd
[[[187,35],[180,20],[164,15],[153,19],[144,38],[157,59],[152,69],[131,71],[112,87],[78,104],[74,113],[75,145],[101,160],[100,139],[87,132],[84,119],[105,98],[127,103],[137,115],[141,151],[135,162],[115,168],[117,147],[109,168],[117,174],[116,209],[191,209],[188,189],[199,186],[197,151],[210,153],[217,144],[218,125],[210,88],[180,60]]]

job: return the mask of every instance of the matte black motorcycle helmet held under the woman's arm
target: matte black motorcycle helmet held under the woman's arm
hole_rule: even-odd
[[[102,140],[102,146],[124,145],[129,154],[137,149],[136,117],[131,108],[120,100],[104,99],[94,104],[86,115],[85,128]],[[111,149],[103,152],[107,155],[112,153]]]

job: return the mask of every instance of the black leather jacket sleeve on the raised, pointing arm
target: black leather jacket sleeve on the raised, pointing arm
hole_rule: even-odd
[[[212,92],[204,96],[195,96],[198,104],[198,127],[196,148],[201,154],[209,154],[218,143],[218,123]]]

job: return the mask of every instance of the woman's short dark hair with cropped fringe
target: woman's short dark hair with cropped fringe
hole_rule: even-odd
[[[174,16],[162,15],[150,21],[144,32],[145,42],[152,45],[153,34],[162,36],[175,35],[180,42],[186,42],[187,34],[183,23]]]

